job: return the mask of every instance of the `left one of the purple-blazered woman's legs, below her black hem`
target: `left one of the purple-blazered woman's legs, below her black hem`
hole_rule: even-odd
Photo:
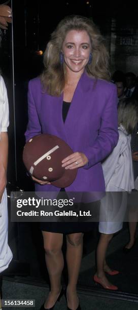
[[[46,265],[49,273],[51,291],[45,301],[45,308],[51,308],[61,291],[61,273],[63,270],[63,255],[61,251],[63,235],[55,232],[42,231]]]

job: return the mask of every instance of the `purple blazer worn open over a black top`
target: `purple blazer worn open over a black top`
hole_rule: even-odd
[[[63,139],[73,151],[83,152],[88,164],[78,169],[66,191],[103,191],[105,180],[101,161],[118,142],[117,90],[113,83],[90,78],[84,72],[78,82],[65,123],[63,94],[48,95],[40,78],[29,81],[26,141],[41,133]],[[37,191],[59,191],[53,185],[36,184]]]

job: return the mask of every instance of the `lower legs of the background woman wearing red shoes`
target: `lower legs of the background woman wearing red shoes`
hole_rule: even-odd
[[[105,275],[105,271],[108,271],[109,266],[106,263],[106,252],[109,245],[110,240],[112,239],[113,234],[100,234],[99,243],[97,246],[97,272],[96,275],[101,279],[104,285],[111,285]],[[110,268],[109,268],[110,269]],[[111,270],[111,269],[110,269]]]

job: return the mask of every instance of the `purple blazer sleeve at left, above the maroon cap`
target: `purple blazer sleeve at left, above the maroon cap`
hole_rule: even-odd
[[[42,133],[41,124],[38,117],[37,107],[34,99],[34,85],[32,81],[28,84],[28,125],[25,132],[25,139],[28,141],[33,136]]]

